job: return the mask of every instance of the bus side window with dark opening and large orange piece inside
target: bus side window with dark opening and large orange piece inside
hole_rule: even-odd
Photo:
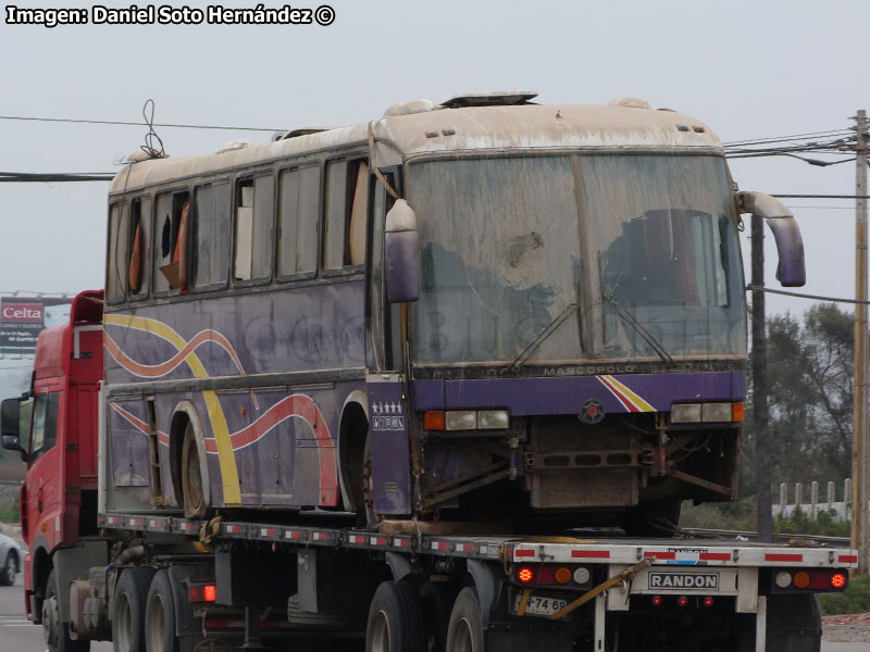
[[[165,292],[170,288],[187,291],[187,252],[183,251],[183,244],[189,231],[189,198],[187,191],[157,197],[154,269],[160,274],[154,273],[156,291]]]

